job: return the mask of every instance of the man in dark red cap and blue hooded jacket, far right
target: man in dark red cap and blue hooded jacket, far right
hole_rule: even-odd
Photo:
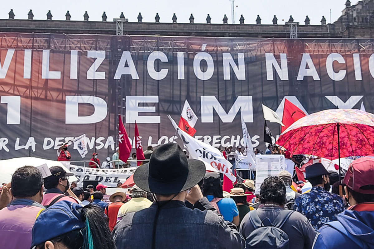
[[[359,158],[349,165],[343,183],[350,207],[318,230],[314,249],[374,248],[373,179],[373,158]]]

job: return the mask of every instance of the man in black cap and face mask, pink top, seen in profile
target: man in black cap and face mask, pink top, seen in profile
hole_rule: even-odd
[[[65,196],[65,192],[70,186],[68,178],[74,174],[66,172],[60,166],[50,167],[49,170],[52,175],[44,178],[44,187],[47,191],[44,194],[42,205],[51,206],[61,200],[78,203],[78,200],[73,197]]]

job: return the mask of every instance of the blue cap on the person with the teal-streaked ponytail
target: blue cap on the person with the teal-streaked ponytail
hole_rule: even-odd
[[[32,230],[31,248],[70,231],[85,227],[83,206],[67,200],[44,209],[36,218]]]

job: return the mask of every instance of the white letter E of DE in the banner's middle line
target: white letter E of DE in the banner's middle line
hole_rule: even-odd
[[[156,106],[139,106],[140,103],[159,103],[159,96],[126,96],[126,123],[158,124],[160,116],[139,116],[140,112],[156,112]]]

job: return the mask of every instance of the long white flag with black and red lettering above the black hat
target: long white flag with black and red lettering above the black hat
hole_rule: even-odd
[[[226,175],[232,182],[236,181],[236,177],[232,174],[231,168],[232,164],[227,161],[220,150],[214,148],[213,146],[203,143],[183,131],[177,126],[174,119],[168,115],[173,127],[177,130],[178,135],[181,137],[184,145],[187,147],[190,153],[191,159],[197,159],[205,164],[205,169],[207,171],[215,171]]]

